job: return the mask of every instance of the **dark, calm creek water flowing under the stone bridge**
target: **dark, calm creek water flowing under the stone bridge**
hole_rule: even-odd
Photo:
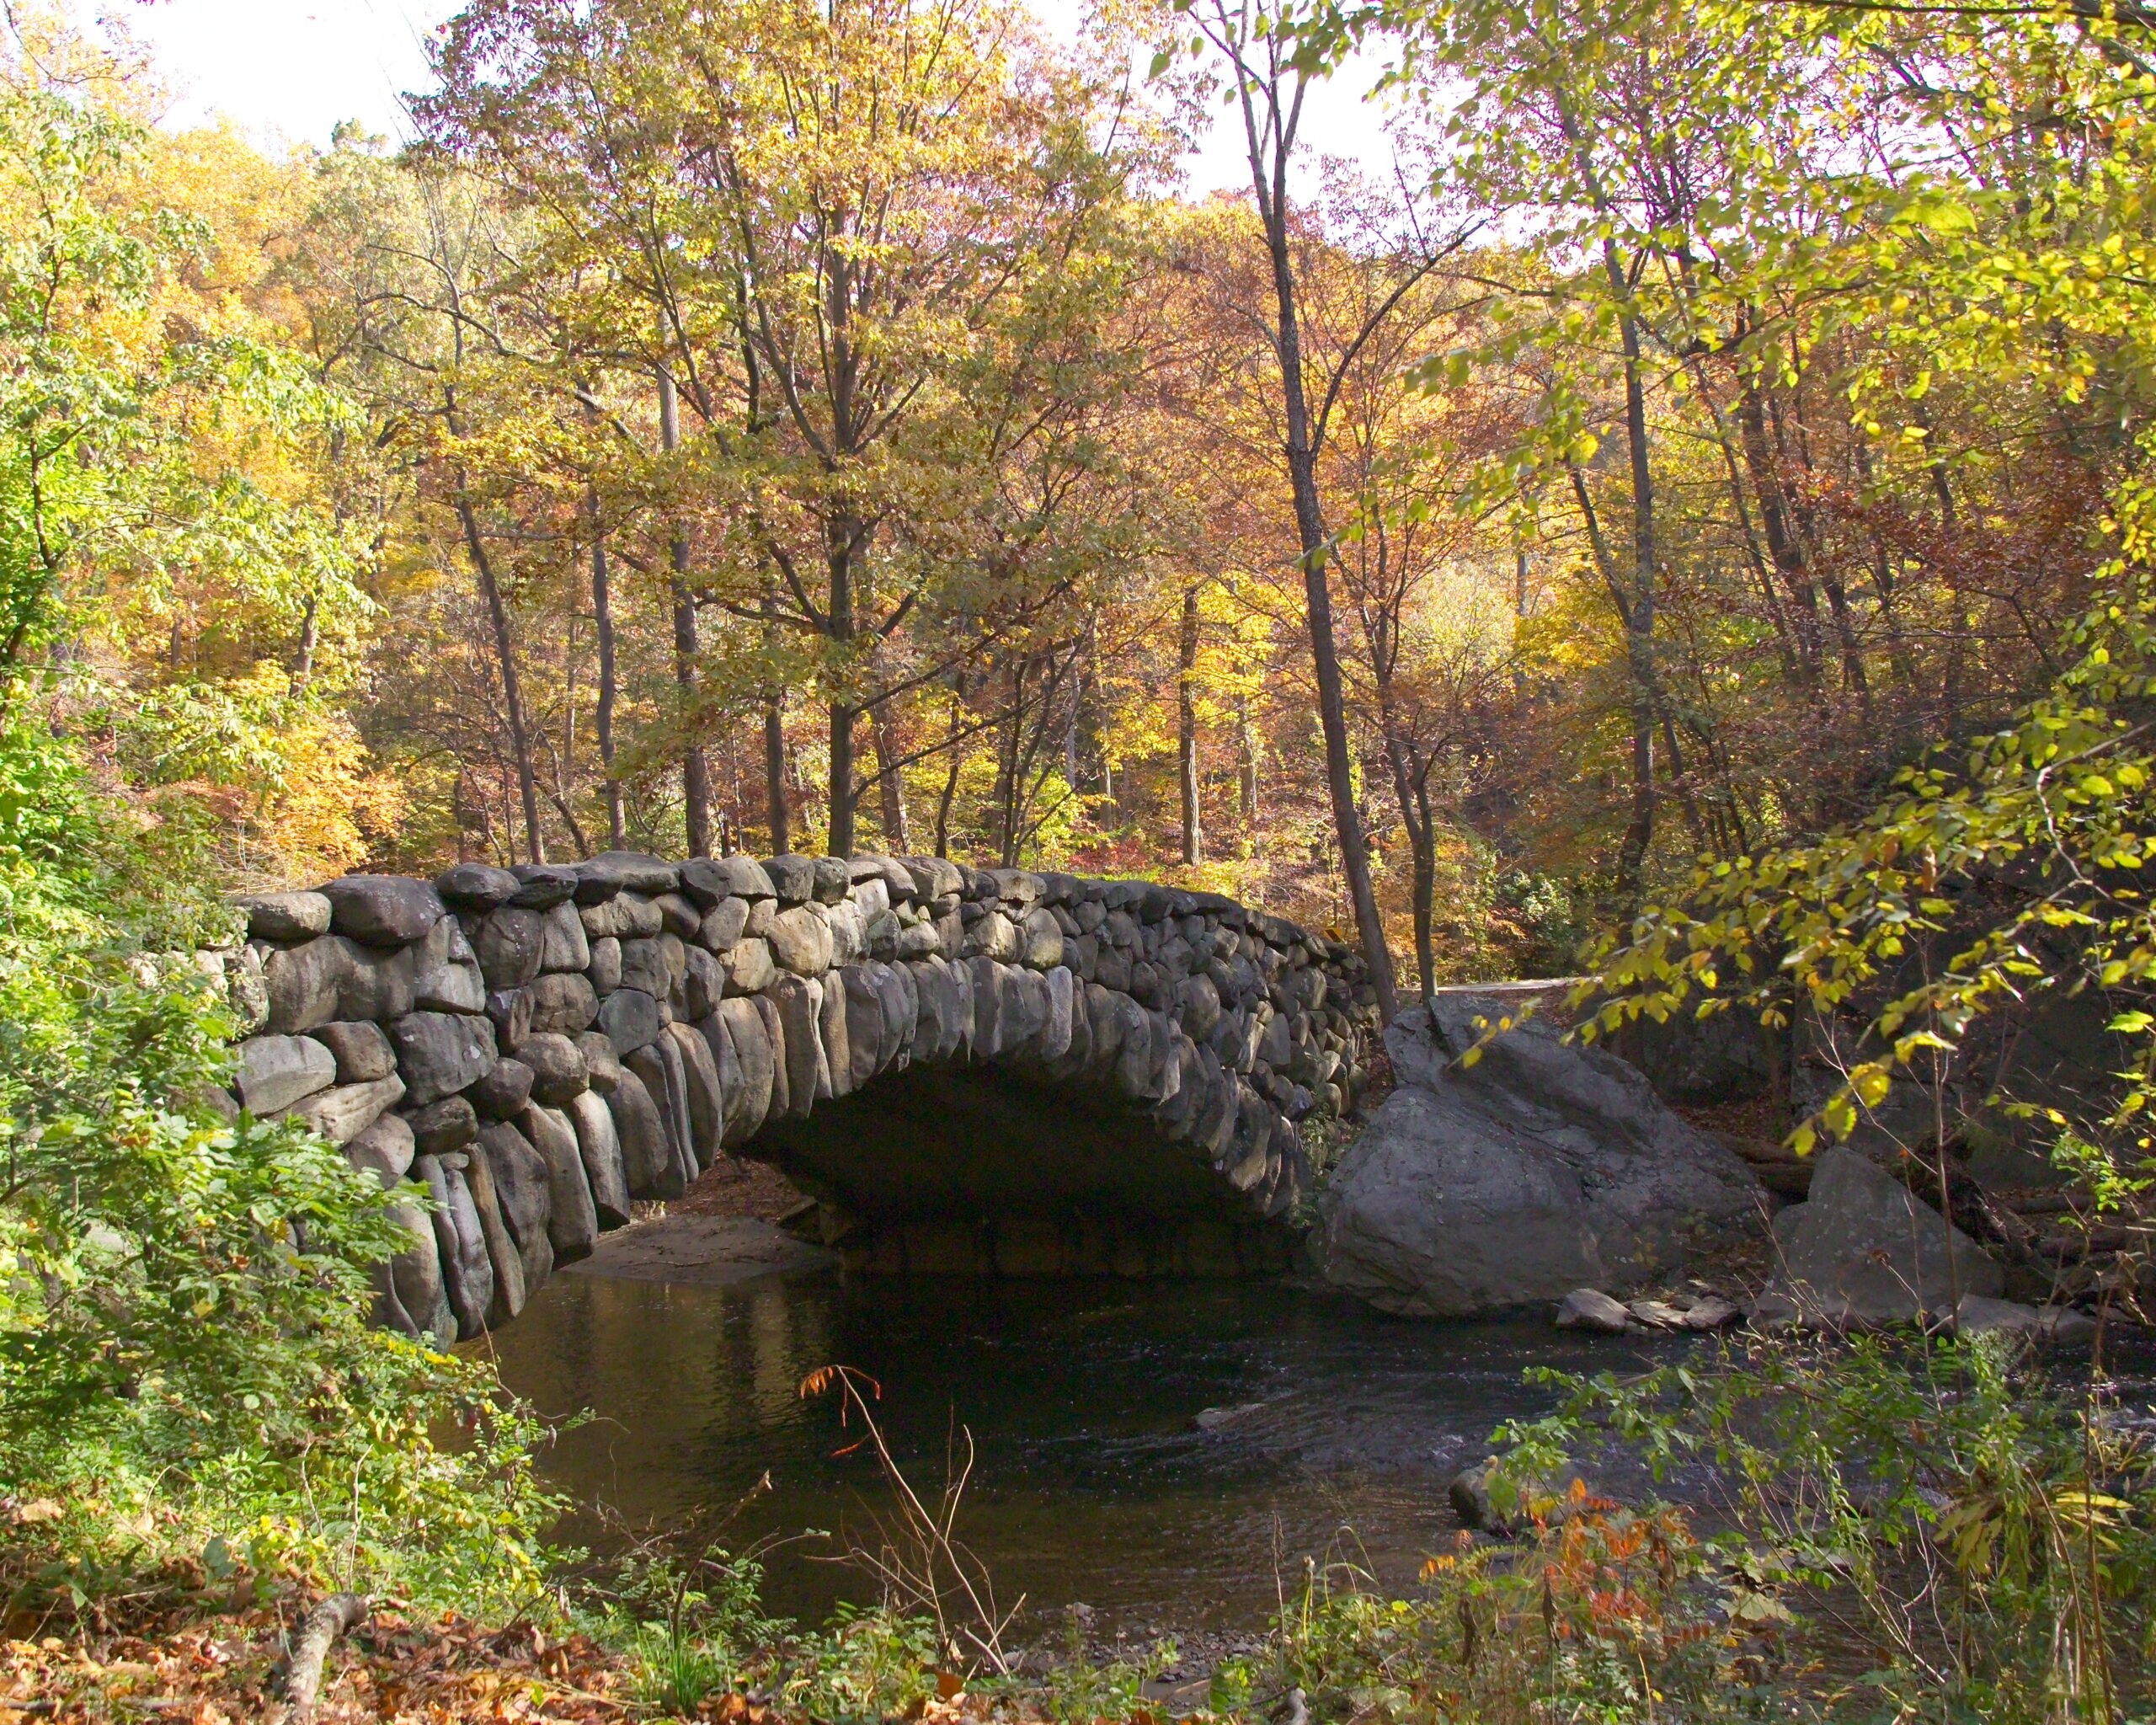
[[[1451,1475],[1552,1399],[1529,1365],[1626,1369],[1684,1346],[1546,1317],[1391,1320],[1263,1281],[834,1272],[729,1287],[563,1274],[496,1339],[513,1389],[591,1414],[545,1455],[561,1490],[630,1524],[748,1499],[722,1542],[783,1542],[765,1602],[802,1622],[875,1596],[832,1561],[888,1514],[875,1455],[832,1397],[800,1395],[817,1367],[856,1367],[923,1496],[970,1432],[959,1535],[1000,1598],[1022,1593],[1037,1626],[1084,1604],[1110,1634],[1257,1630],[1307,1559],[1412,1581],[1457,1533]],[[591,1514],[569,1531],[608,1537]]]

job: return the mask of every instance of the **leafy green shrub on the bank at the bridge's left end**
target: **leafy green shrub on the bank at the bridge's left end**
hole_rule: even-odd
[[[183,837],[95,796],[43,727],[0,729],[13,1606],[278,1572],[520,1604],[554,1512],[537,1425],[492,1369],[367,1322],[401,1240],[371,1177],[196,1100],[235,1024],[192,953],[231,912]]]

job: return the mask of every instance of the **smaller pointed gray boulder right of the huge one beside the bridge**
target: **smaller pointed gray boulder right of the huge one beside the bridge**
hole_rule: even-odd
[[[1811,1195],[1774,1218],[1774,1251],[1781,1268],[1753,1307],[1755,1324],[1906,1324],[2005,1292],[1999,1259],[1848,1145],[1818,1151]]]

